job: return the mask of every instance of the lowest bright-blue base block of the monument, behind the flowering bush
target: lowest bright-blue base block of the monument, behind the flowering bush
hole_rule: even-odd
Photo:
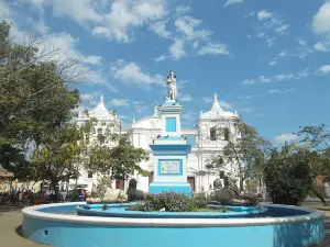
[[[160,194],[164,192],[183,193],[191,198],[191,187],[188,182],[152,182],[148,186],[148,193]]]

